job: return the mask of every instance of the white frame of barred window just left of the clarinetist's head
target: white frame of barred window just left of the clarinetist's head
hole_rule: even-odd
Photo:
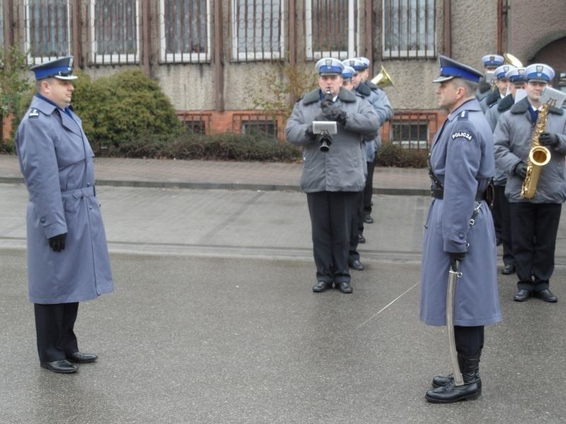
[[[216,0],[219,1],[219,0]],[[244,0],[244,1],[258,1],[258,0]],[[262,1],[262,5],[264,0]],[[239,52],[238,51],[238,16],[236,16],[236,11],[238,10],[237,2],[238,0],[230,0],[231,11],[230,11],[230,28],[232,33],[232,59],[234,61],[264,61],[264,60],[277,60],[283,59],[285,57],[285,5],[286,1],[279,1],[279,50],[268,50],[263,49],[258,51],[254,49],[253,52]],[[265,6],[265,5],[263,5]],[[247,26],[246,26],[247,28]],[[262,40],[263,41],[263,40]]]

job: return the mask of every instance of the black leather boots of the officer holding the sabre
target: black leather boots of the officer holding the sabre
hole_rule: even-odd
[[[477,399],[482,393],[482,380],[480,379],[480,354],[473,358],[466,358],[458,353],[458,365],[464,384],[456,386],[452,375],[442,377],[437,376],[432,379],[432,384],[435,382],[441,384],[436,389],[427,391],[424,396],[427,401],[435,404],[451,404],[457,401],[464,401],[466,399]],[[446,381],[447,380],[447,381]]]

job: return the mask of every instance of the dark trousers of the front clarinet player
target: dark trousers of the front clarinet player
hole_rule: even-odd
[[[348,252],[359,192],[307,193],[316,281],[350,282]]]

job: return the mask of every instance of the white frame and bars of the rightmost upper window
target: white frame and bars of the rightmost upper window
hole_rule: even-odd
[[[398,42],[397,46],[393,46],[393,47],[398,47],[398,50],[393,50],[393,49],[386,49],[386,28],[388,28],[388,26],[393,26],[393,23],[391,25],[386,25],[386,18],[388,18],[388,8],[386,3],[392,3],[393,1],[395,1],[395,4],[397,4],[399,6],[399,8],[402,8],[402,6],[411,6],[410,2],[412,0],[408,0],[406,3],[405,1],[402,0],[381,0],[381,57],[383,57],[383,59],[415,59],[415,58],[428,58],[428,57],[436,57],[437,54],[437,1],[436,0],[415,0],[416,4],[417,4],[417,10],[420,8],[419,3],[421,1],[424,1],[424,25],[425,25],[425,32],[424,32],[424,43],[425,43],[425,48],[424,49],[401,49],[401,42]],[[429,4],[429,1],[432,2],[432,4]],[[427,49],[426,46],[426,42],[427,42],[427,38],[429,37],[428,33],[426,32],[426,28],[428,25],[428,11],[429,9],[432,9],[432,28],[430,29],[430,31],[432,31],[431,37],[432,37],[432,49]],[[398,11],[398,15],[400,15],[401,13],[403,13],[403,10],[399,10]],[[406,10],[405,10],[406,13]],[[402,20],[399,19],[399,22],[397,23],[397,26],[400,28],[402,23]],[[399,33],[398,37],[399,40],[403,37],[405,37],[405,39],[410,38],[411,34],[407,33],[408,28],[410,28],[410,25],[412,23],[412,20],[408,20],[407,23],[407,28],[404,28],[404,32],[403,33]],[[420,35],[418,34],[418,29],[420,28],[420,19],[416,18],[416,23],[415,23],[415,28],[416,28],[416,37],[417,40],[420,40]],[[405,47],[408,47],[405,43]]]

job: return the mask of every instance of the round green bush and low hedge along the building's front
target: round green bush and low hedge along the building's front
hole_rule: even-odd
[[[125,70],[94,81],[81,71],[74,81],[73,107],[97,154],[126,158],[257,160],[294,162],[301,149],[265,134],[184,134],[183,125],[157,81],[137,70]],[[17,126],[33,92],[16,107]],[[13,143],[0,143],[0,152],[13,153]],[[426,153],[384,143],[382,166],[424,167]]]

